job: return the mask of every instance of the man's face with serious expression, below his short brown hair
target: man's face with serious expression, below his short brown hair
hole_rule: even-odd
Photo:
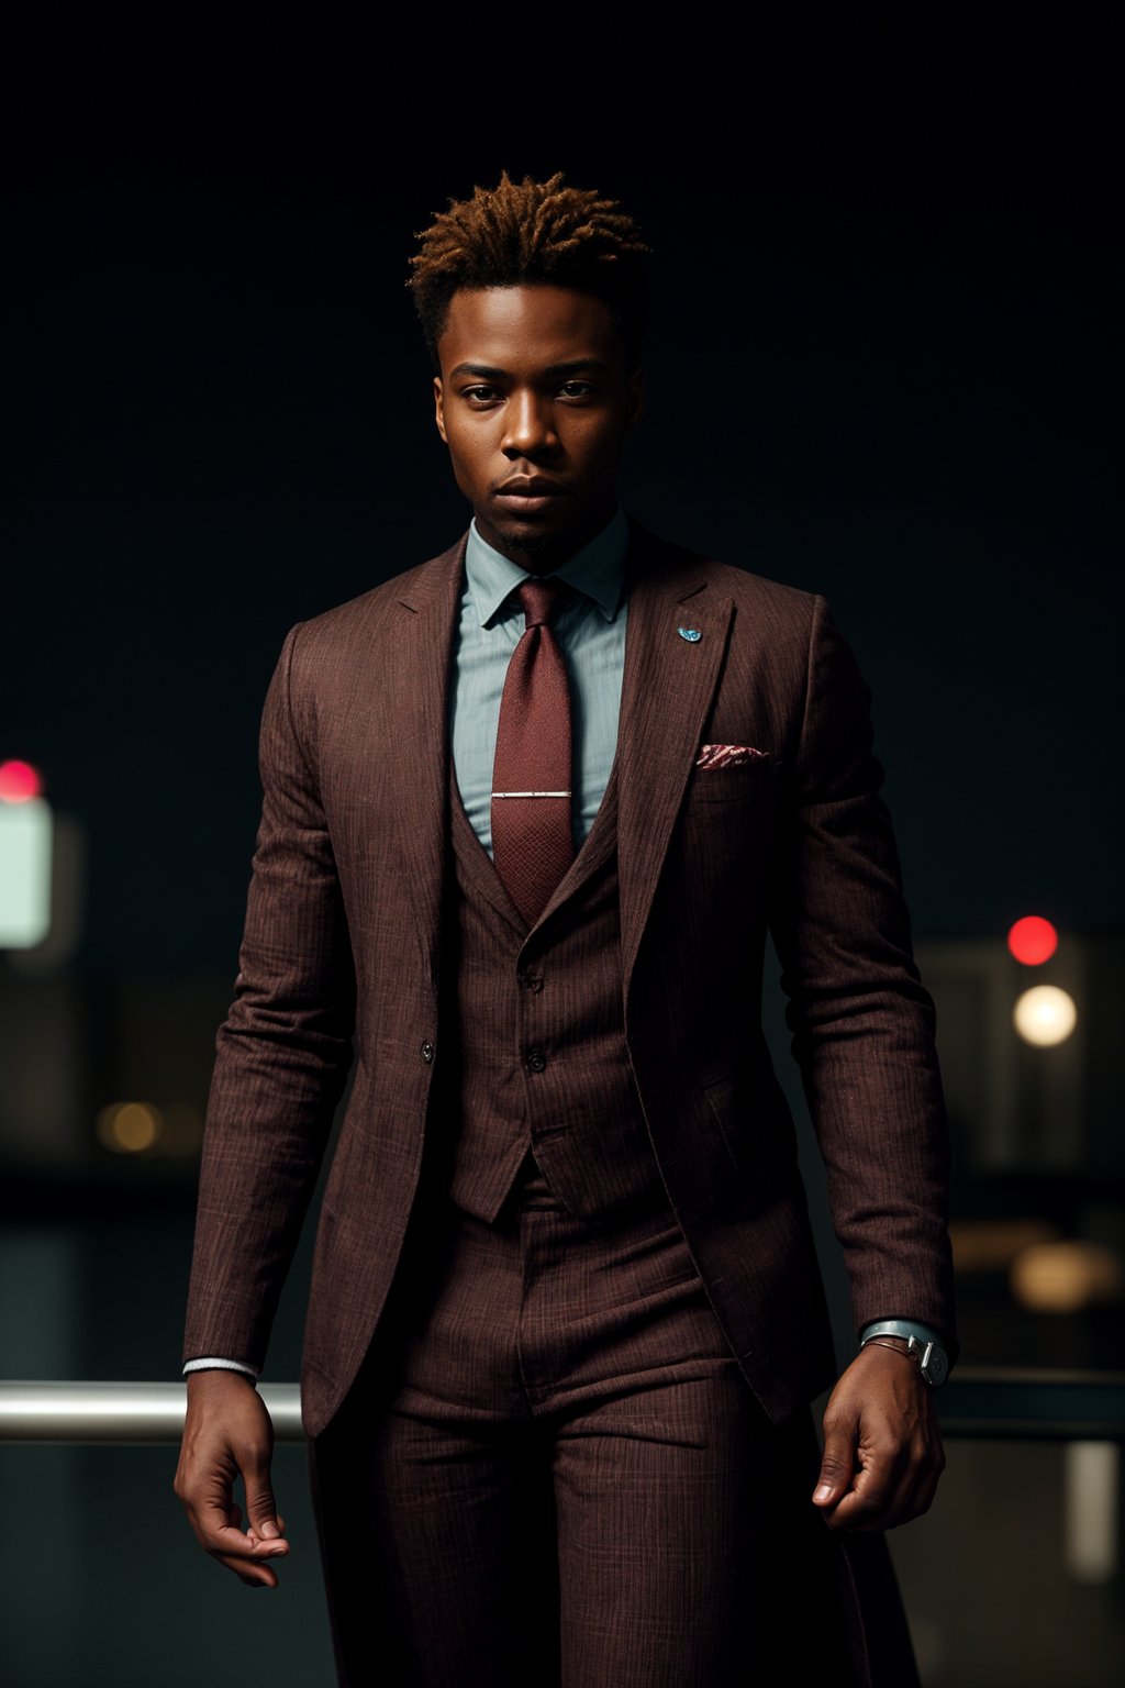
[[[437,343],[437,430],[496,550],[565,562],[614,513],[641,373],[600,299],[568,287],[466,287]]]

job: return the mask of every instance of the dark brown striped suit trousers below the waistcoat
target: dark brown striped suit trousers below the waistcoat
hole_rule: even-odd
[[[312,1448],[341,1683],[850,1681],[811,1421],[761,1411],[666,1207],[599,1232],[528,1166],[493,1225],[412,1220]]]

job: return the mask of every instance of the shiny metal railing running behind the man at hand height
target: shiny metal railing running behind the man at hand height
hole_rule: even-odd
[[[278,1442],[300,1442],[300,1389],[260,1384]],[[938,1396],[945,1436],[1125,1442],[1125,1372],[960,1367]],[[182,1382],[2,1382],[0,1442],[175,1443]]]

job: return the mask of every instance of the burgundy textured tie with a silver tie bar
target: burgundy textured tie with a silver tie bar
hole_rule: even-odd
[[[548,621],[555,581],[525,581],[526,626],[511,653],[493,765],[493,861],[530,927],[573,861],[570,690]]]

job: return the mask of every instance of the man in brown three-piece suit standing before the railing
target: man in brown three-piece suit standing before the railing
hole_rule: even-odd
[[[275,1585],[253,1377],[354,1033],[302,1371],[351,1685],[912,1680],[872,1533],[943,1463],[933,1011],[823,601],[617,508],[643,252],[560,176],[425,231],[472,527],[297,626],[266,701],[177,1492]],[[864,1342],[815,1484],[833,1361],[767,928]]]

